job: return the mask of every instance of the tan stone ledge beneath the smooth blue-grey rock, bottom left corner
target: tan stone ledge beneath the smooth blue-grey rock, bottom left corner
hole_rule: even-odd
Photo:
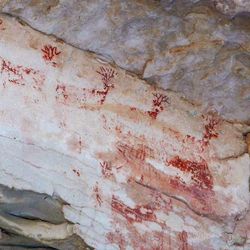
[[[0,246],[33,248],[47,246],[60,250],[86,250],[87,247],[80,237],[73,235],[73,225],[69,223],[54,225],[0,213],[0,227],[14,234],[10,239],[6,240],[6,237],[0,239]]]

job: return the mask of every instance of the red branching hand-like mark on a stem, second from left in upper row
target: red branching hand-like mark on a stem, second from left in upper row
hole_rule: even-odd
[[[92,92],[102,96],[100,103],[103,104],[106,100],[109,91],[115,87],[112,81],[115,75],[117,75],[117,73],[115,73],[115,71],[111,68],[104,67],[100,67],[100,69],[96,72],[101,75],[102,83],[104,86],[103,90],[93,90]]]

